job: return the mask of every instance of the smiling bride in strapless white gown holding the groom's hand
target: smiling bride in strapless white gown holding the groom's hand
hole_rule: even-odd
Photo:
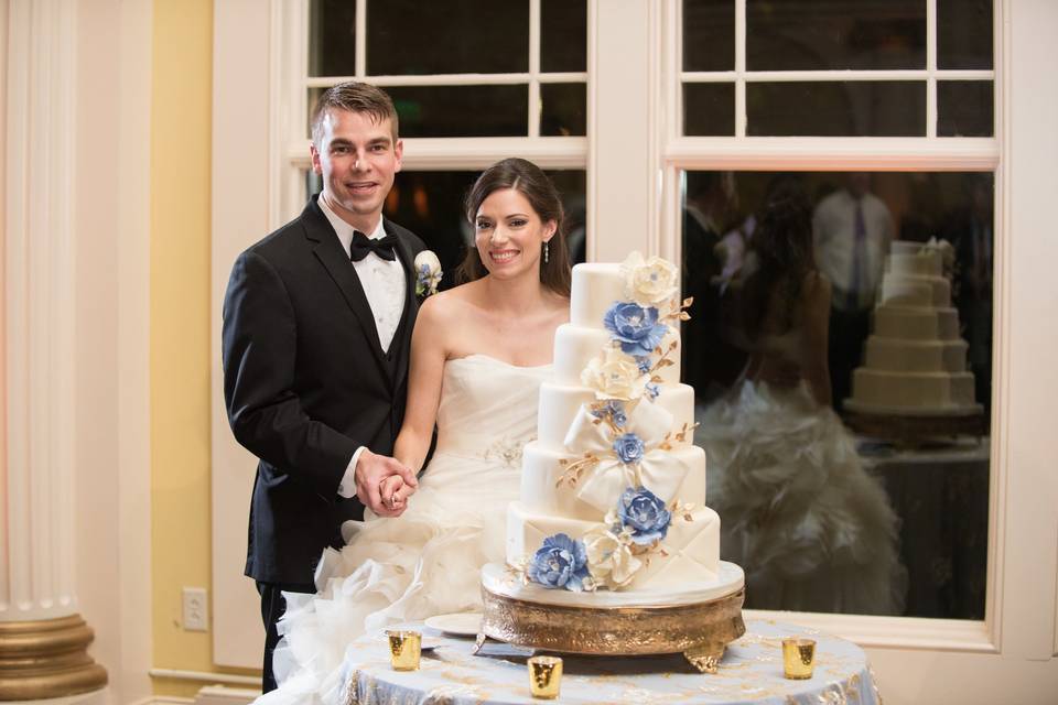
[[[287,594],[276,651],[279,688],[257,702],[336,702],[345,646],[385,625],[479,608],[479,572],[503,562],[505,512],[517,499],[521,447],[537,429],[555,328],[569,318],[570,263],[554,186],[531,162],[490,166],[466,199],[475,234],[467,281],[428,299],[411,344],[408,411],[395,457],[422,467],[381,496],[406,511],[347,522],[325,551],[315,595]],[[414,491],[413,497],[409,497]]]

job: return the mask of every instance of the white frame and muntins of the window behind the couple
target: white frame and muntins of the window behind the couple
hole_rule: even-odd
[[[310,0],[272,0],[272,85],[283,101],[272,101],[273,170],[271,220],[276,226],[298,215],[306,194],[304,171],[311,167],[304,135],[310,88],[325,88],[344,80],[365,80],[381,88],[395,86],[481,86],[528,84],[529,115],[526,137],[401,138],[404,171],[476,171],[507,156],[522,156],[548,170],[586,170],[586,137],[540,135],[541,84],[589,83],[589,72],[540,70],[540,0],[529,1],[529,70],[508,74],[432,74],[413,76],[367,73],[367,9],[371,0],[357,0],[356,56],[352,76],[309,76]],[[587,52],[591,55],[591,37]],[[589,235],[591,237],[591,235]]]

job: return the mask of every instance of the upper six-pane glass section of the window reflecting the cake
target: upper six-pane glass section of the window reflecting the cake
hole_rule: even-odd
[[[682,0],[683,134],[992,137],[989,0]]]

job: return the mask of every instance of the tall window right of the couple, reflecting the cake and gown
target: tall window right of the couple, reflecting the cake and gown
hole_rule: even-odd
[[[984,619],[992,2],[668,11],[682,370],[747,606]]]

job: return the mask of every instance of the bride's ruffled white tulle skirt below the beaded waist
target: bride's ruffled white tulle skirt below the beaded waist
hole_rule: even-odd
[[[342,703],[345,648],[355,637],[481,610],[481,568],[504,561],[506,508],[518,488],[517,467],[439,454],[401,517],[346,522],[347,544],[321,560],[317,593],[287,594],[273,659],[280,687],[257,702]]]

